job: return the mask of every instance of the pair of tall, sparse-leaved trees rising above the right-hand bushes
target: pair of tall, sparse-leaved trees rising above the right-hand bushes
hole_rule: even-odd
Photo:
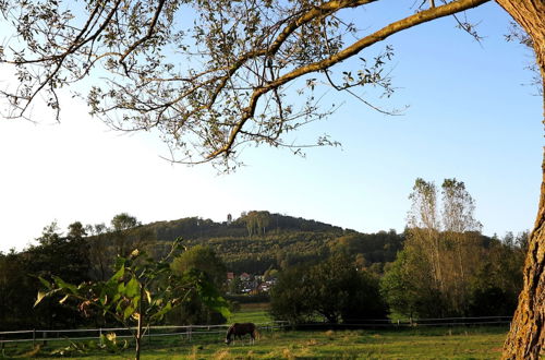
[[[416,179],[409,196],[412,206],[404,264],[413,271],[420,268],[416,277],[422,280],[427,274],[415,266],[414,259],[429,264],[433,286],[428,288],[437,291],[443,308],[437,315],[468,315],[471,280],[484,256],[481,224],[473,216],[475,204],[462,181],[445,179],[440,201],[437,195],[434,182]]]

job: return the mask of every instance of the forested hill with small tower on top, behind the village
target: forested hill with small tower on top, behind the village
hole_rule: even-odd
[[[319,261],[336,251],[350,253],[362,266],[380,271],[384,263],[395,260],[403,242],[403,236],[392,230],[366,235],[269,212],[249,212],[223,223],[198,217],[158,221],[140,229],[156,241],[156,247],[180,237],[190,247],[209,245],[228,271],[239,274],[263,274],[268,268]]]

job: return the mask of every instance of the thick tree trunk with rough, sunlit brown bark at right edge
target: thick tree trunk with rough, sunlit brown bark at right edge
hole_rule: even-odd
[[[496,1],[532,38],[542,74],[542,85],[545,88],[545,1]],[[537,360],[540,353],[545,350],[545,154],[542,168],[537,218],[524,263],[524,286],[519,296],[519,305],[511,322],[511,329],[504,345],[502,359]]]

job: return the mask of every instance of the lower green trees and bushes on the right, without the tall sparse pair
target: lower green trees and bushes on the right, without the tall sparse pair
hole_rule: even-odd
[[[439,235],[446,241],[449,233]],[[528,233],[502,239],[461,237],[474,256],[464,259],[465,273],[457,266],[451,248],[441,250],[446,284],[440,287],[432,264],[408,240],[392,263],[382,272],[362,266],[356,255],[330,254],[325,261],[291,266],[279,272],[270,293],[271,314],[295,323],[328,321],[365,322],[376,319],[436,319],[457,316],[510,316],[522,288],[522,265]],[[448,243],[446,244],[448,245]],[[330,307],[330,308],[328,308]]]

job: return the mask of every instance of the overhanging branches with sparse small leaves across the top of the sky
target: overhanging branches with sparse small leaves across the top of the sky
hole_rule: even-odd
[[[214,161],[227,170],[247,143],[295,153],[336,145],[327,135],[298,144],[288,134],[335,109],[323,104],[318,87],[372,107],[355,87],[389,96],[384,69],[393,53],[385,46],[360,57],[353,71],[336,64],[392,34],[488,0],[422,2],[371,34],[343,20],[347,10],[375,1],[2,2],[3,17],[17,26],[0,60],[15,67],[20,81],[3,95],[13,117],[29,117],[39,95],[59,116],[61,87],[101,76],[106,80],[84,86],[92,113],[114,129],[157,129],[172,160]]]

